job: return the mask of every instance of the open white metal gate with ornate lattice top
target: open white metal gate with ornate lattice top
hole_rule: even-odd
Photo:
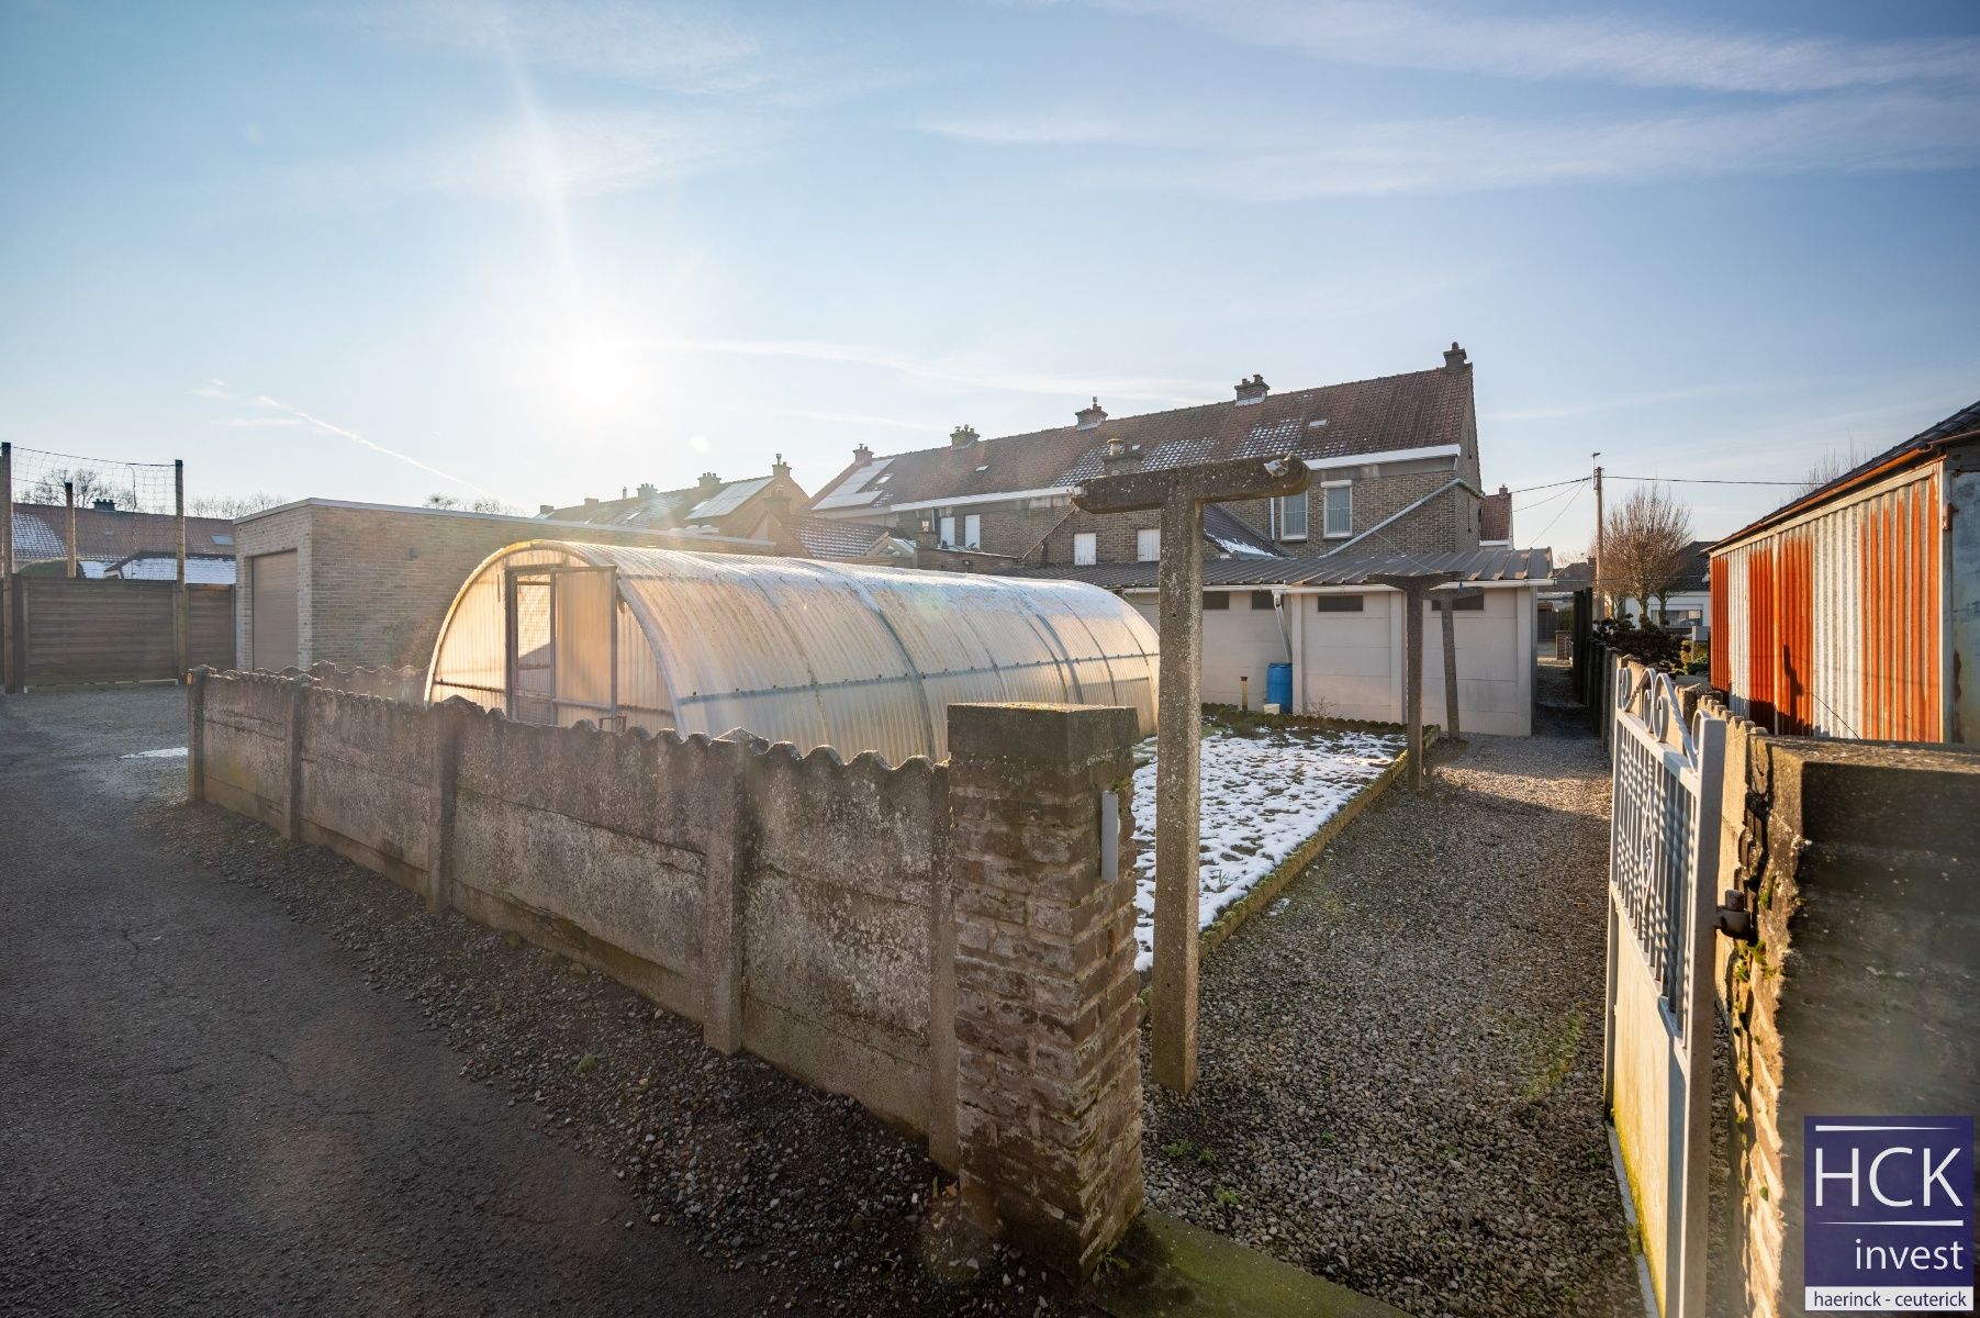
[[[1725,720],[1687,728],[1663,673],[1614,663],[1602,1098],[1665,1318],[1705,1312],[1713,885]]]

